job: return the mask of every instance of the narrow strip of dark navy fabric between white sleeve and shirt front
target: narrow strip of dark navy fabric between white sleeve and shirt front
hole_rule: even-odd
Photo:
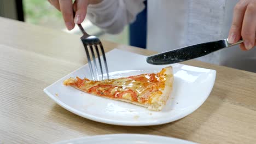
[[[146,49],[147,44],[147,1],[146,8],[136,17],[135,22],[130,24],[130,45]]]

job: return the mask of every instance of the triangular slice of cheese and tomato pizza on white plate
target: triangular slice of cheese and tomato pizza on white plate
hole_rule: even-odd
[[[63,84],[100,97],[125,101],[147,107],[149,110],[160,111],[171,95],[173,74],[170,66],[156,74],[141,74],[102,81],[77,77],[77,79],[69,78]]]

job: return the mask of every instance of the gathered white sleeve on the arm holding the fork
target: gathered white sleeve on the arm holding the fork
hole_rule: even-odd
[[[88,5],[88,19],[107,33],[117,34],[125,25],[135,21],[145,5],[144,0],[103,0],[98,4]]]

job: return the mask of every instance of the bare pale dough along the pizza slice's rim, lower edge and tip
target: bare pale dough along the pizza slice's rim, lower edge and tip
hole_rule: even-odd
[[[149,109],[149,110],[160,111],[165,106],[168,98],[170,97],[171,92],[172,92],[172,87],[173,87],[172,67],[171,66],[166,67],[165,69],[166,69],[165,74],[167,75],[166,81],[165,81],[165,88],[164,88],[164,90],[161,91],[162,92],[161,95],[158,95],[157,97],[154,97],[152,99],[151,104],[141,104],[141,103],[138,103],[136,101],[130,101],[130,100],[127,100],[127,99],[120,99],[120,98],[119,99],[114,99],[114,98],[98,96],[98,95],[96,95],[96,96],[104,97],[104,98],[107,98],[107,99],[125,101],[126,103],[132,103],[132,104],[135,104],[135,105],[147,107],[147,109]],[[66,86],[72,86],[74,88],[79,89],[80,91],[86,92],[83,89],[78,88],[75,85],[76,82],[77,82],[77,80],[75,80],[74,78],[69,78],[69,79],[65,80],[63,82],[63,84],[66,85]]]

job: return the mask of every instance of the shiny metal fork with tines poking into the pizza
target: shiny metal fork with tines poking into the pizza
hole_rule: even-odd
[[[94,49],[96,50],[96,53],[97,53],[98,64],[100,65],[101,77],[102,77],[102,80],[103,80],[103,69],[102,69],[101,57],[100,57],[100,52],[98,50],[98,47],[100,47],[102,57],[103,57],[103,61],[104,61],[104,65],[105,65],[105,69],[106,69],[106,73],[107,73],[107,79],[109,79],[107,60],[106,60],[105,52],[104,52],[104,49],[103,49],[103,46],[102,46],[102,43],[101,43],[100,39],[98,39],[94,35],[89,35],[88,33],[86,33],[84,31],[84,28],[82,27],[82,25],[79,24],[78,27],[80,28],[80,30],[84,34],[80,39],[82,40],[82,42],[84,44],[84,49],[85,49],[86,56],[87,56],[87,59],[88,59],[92,80],[100,80],[99,77],[98,77],[98,67],[97,67],[97,62],[95,60],[95,51],[94,51]],[[90,53],[89,53],[88,49],[90,49],[90,51],[91,51],[92,61],[94,62],[94,68],[92,68]],[[95,77],[97,77],[97,79],[95,79]]]

